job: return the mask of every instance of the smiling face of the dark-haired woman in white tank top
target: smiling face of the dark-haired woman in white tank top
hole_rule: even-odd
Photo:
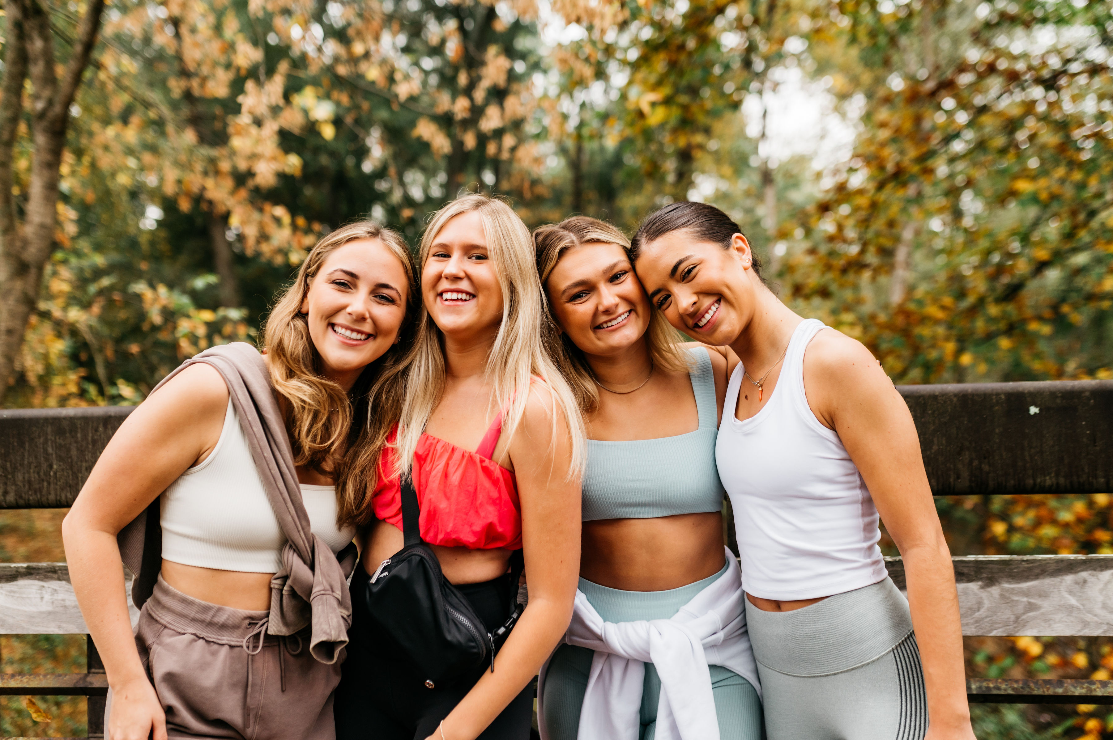
[[[664,234],[644,245],[638,257],[638,277],[650,303],[673,327],[711,345],[738,338],[754,315],[750,245],[741,234],[730,248],[701,241],[687,230]]]

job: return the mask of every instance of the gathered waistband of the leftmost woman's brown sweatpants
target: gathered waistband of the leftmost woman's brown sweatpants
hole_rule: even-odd
[[[161,575],[144,609],[173,630],[226,645],[242,644],[270,615],[269,611],[233,609],[194,599],[167,584]]]

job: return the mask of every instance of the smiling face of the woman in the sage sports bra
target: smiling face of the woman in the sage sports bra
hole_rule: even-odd
[[[561,330],[589,355],[626,349],[649,328],[646,292],[617,244],[591,241],[565,250],[545,292]]]

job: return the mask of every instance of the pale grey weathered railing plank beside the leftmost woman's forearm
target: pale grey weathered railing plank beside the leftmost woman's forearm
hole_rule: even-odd
[[[131,603],[131,575],[125,573],[134,625],[139,621],[139,610]],[[0,564],[0,634],[83,634],[88,631],[66,563]]]

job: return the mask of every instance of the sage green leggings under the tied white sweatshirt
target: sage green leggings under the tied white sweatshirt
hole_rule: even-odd
[[[608,622],[669,619],[692,596],[722,573],[671,591],[619,591],[580,579],[580,591]],[[575,740],[580,729],[580,710],[588,689],[591,659],[588,648],[561,645],[553,653],[545,673],[542,717],[550,740]],[[721,665],[710,665],[711,691],[719,720],[721,740],[762,740],[761,699],[750,682]],[[646,680],[641,694],[641,731],[639,740],[653,740],[657,731],[657,703],[661,679],[652,663],[646,663]]]

